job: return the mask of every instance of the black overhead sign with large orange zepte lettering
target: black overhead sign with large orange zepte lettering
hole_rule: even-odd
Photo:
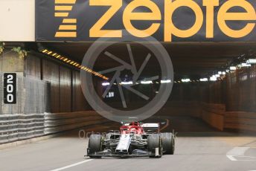
[[[255,0],[36,0],[36,41],[256,41]]]

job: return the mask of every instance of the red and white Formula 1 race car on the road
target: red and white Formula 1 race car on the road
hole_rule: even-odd
[[[120,132],[106,135],[93,134],[89,138],[87,156],[161,158],[173,155],[173,133],[159,133],[159,123],[123,123]]]

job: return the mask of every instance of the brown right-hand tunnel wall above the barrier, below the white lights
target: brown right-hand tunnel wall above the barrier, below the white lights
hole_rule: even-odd
[[[225,104],[227,111],[256,112],[256,65],[208,83],[175,83],[172,101]]]

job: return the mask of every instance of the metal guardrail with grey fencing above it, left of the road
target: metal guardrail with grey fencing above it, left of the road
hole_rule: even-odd
[[[4,73],[0,72],[0,144],[51,135],[102,123],[92,111],[45,113],[51,111],[51,85],[44,80],[17,73],[17,103],[4,104]]]

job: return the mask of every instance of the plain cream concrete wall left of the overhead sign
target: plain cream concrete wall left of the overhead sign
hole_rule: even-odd
[[[35,41],[35,0],[0,0],[0,41]]]

